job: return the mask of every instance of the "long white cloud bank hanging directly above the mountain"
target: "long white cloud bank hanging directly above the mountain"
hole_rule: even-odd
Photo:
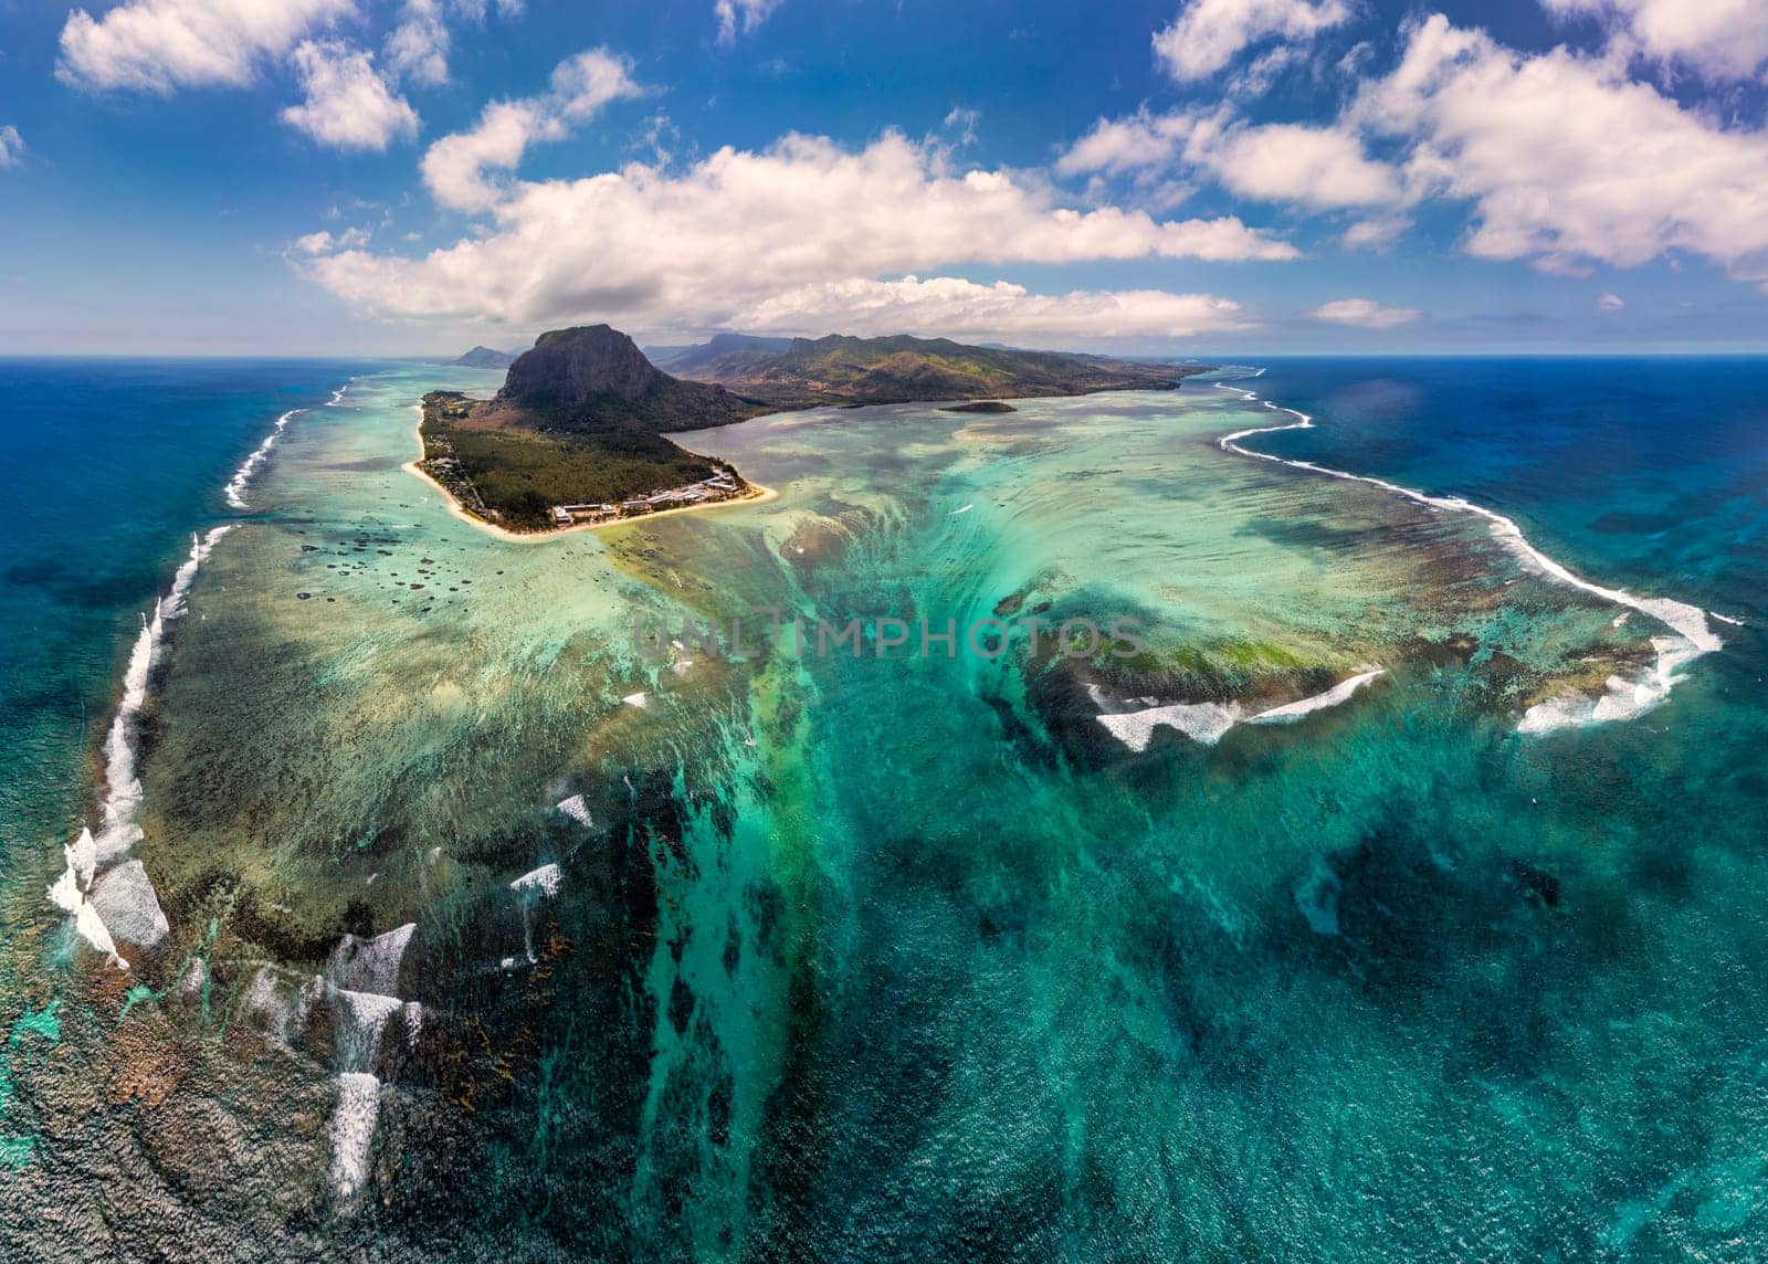
[[[513,166],[530,129],[532,120],[511,122],[493,157]],[[923,313],[916,325],[932,329],[939,322],[925,313],[944,311],[955,320],[969,313],[965,327],[1057,332],[1066,320],[1070,332],[1087,334],[1239,316],[1200,295],[1165,295],[1158,304],[1155,292],[1054,299],[928,272],[1296,256],[1287,242],[1234,217],[1158,221],[1110,205],[1082,210],[1036,179],[953,171],[941,145],[895,133],[863,148],[789,134],[762,150],[720,148],[682,171],[633,163],[576,180],[506,186],[472,184],[493,147],[483,126],[470,136],[483,147],[458,166],[433,161],[438,141],[426,179],[440,200],[488,210],[490,232],[421,258],[322,253],[308,274],[355,308],[400,320],[820,329],[849,324],[836,316],[857,304],[877,313],[879,327]],[[453,184],[461,171],[469,177]]]

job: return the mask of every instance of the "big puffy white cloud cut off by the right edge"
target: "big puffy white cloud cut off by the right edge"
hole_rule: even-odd
[[[1768,258],[1768,133],[1683,108],[1616,57],[1517,53],[1436,14],[1351,118],[1411,147],[1409,179],[1473,203],[1464,249],[1577,274],[1692,251]]]

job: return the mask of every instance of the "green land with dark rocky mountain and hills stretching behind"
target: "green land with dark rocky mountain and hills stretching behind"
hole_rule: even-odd
[[[469,357],[481,352],[499,355],[476,346]],[[675,375],[608,325],[541,334],[509,364],[495,398],[424,396],[419,465],[469,513],[545,530],[582,516],[601,522],[750,493],[735,470],[665,438],[674,431],[824,405],[1160,391],[1206,368],[902,334],[720,334],[658,355]]]

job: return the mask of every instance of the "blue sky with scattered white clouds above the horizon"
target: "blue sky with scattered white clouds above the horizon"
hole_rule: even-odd
[[[1764,72],[1740,0],[0,0],[0,354],[1763,350]]]

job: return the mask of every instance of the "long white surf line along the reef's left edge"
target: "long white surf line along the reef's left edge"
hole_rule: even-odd
[[[106,910],[113,921],[124,916],[134,926],[150,926],[152,942],[143,944],[145,948],[152,948],[164,935],[164,914],[145,877],[131,872],[126,880],[106,882],[111,872],[126,868],[120,861],[141,841],[141,826],[136,824],[141,808],[134,750],[136,716],[147,704],[147,681],[166,638],[166,624],[184,613],[196,573],[209,560],[216,541],[230,530],[233,523],[214,527],[207,536],[193,536],[191,553],[171,576],[166,596],[154,603],[152,617],[141,615],[141,633],[134,638],[129,666],[122,674],[122,702],[117,704],[117,716],[104,737],[99,833],[94,836],[90,827],[81,829],[74,843],[62,847],[67,868],[46,893],[50,903],[72,914],[74,930],[118,969],[127,969],[129,963],[118,955],[104,923]]]

